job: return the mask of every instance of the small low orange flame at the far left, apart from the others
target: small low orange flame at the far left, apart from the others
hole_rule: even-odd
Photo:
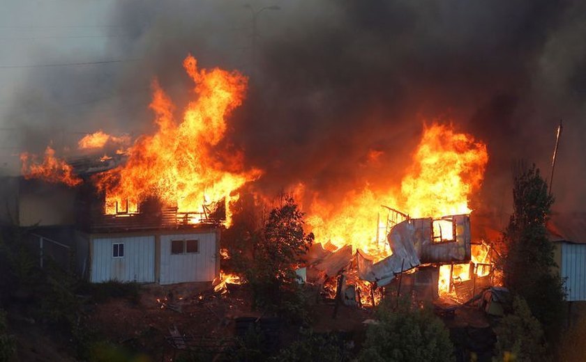
[[[43,162],[36,162],[36,157],[24,152],[20,155],[22,162],[22,175],[27,180],[40,178],[47,182],[62,182],[68,186],[77,186],[82,179],[73,173],[73,168],[62,159],[55,157],[55,150],[50,146],[45,149]]]

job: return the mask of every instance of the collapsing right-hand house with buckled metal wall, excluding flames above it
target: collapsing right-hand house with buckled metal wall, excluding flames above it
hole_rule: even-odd
[[[343,283],[335,294],[349,305],[377,304],[384,294],[380,288],[391,285],[419,300],[461,302],[497,283],[490,247],[471,242],[468,214],[440,219],[402,215],[405,220],[386,233],[391,255],[377,260],[364,251],[352,253],[350,246],[332,252],[317,244],[308,258],[308,280],[324,285],[336,298],[334,285]]]

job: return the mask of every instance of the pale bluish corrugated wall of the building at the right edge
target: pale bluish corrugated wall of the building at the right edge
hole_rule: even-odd
[[[566,300],[586,301],[586,244],[562,244],[562,278]]]

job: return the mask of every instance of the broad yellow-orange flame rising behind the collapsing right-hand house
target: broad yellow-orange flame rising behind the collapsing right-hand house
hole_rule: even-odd
[[[333,249],[351,244],[380,260],[392,253],[386,232],[393,223],[403,221],[380,205],[396,207],[410,217],[467,214],[471,211],[469,198],[480,186],[487,162],[484,143],[456,132],[451,125],[433,123],[423,128],[413,166],[400,190],[375,191],[367,185],[347,193],[337,207],[315,198],[308,210],[308,226],[317,242],[333,245]]]

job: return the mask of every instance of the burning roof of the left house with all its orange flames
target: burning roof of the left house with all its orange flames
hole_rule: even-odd
[[[193,95],[181,119],[174,117],[174,104],[156,81],[153,82],[151,109],[156,114],[157,131],[143,135],[126,150],[100,157],[77,159],[75,168],[90,174],[97,189],[105,193],[105,214],[138,212],[144,200],[156,197],[166,205],[197,223],[207,214],[207,207],[237,198],[235,191],[260,175],[256,169],[245,170],[241,152],[218,143],[223,140],[226,117],[242,103],[247,79],[239,72],[219,68],[200,69],[193,56],[183,62],[195,81]],[[127,143],[126,136],[111,136],[103,131],[88,134],[78,142],[80,149],[101,149],[108,142]],[[44,178],[75,186],[82,179],[73,166],[54,156],[47,148],[43,162],[24,153],[22,173],[27,178]],[[227,223],[230,210],[225,208]]]

